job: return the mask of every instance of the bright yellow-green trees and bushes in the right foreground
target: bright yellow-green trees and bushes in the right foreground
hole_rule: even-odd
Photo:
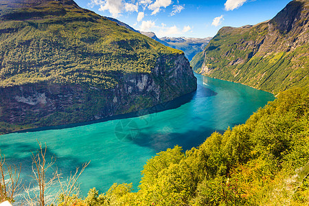
[[[308,205],[309,89],[280,93],[246,124],[148,160],[138,192],[114,184],[84,205]],[[91,200],[91,201],[90,201]]]

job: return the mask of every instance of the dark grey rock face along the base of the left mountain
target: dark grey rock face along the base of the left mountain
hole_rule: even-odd
[[[174,60],[167,70],[166,58]],[[158,58],[151,73],[128,73],[113,89],[82,87],[73,84],[25,84],[0,88],[0,122],[14,127],[35,128],[87,122],[138,111],[168,102],[196,90],[196,78],[182,55]]]

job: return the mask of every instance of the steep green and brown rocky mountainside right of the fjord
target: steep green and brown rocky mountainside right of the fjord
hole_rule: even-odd
[[[308,85],[308,12],[308,1],[291,1],[270,21],[222,27],[191,65],[203,75],[272,93]]]

